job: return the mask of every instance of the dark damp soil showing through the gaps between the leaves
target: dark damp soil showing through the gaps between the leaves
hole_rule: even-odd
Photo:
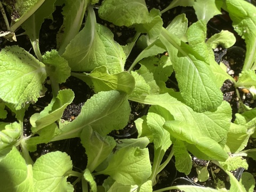
[[[146,0],[146,3],[148,5],[148,9],[152,9],[155,7],[156,9],[162,10],[167,5],[169,5],[171,1],[157,1],[157,0]],[[97,9],[94,10],[97,14]],[[162,15],[163,21],[164,21],[164,27],[166,27],[171,20],[178,14],[186,13],[187,18],[189,19],[189,23],[196,21],[196,15],[192,9],[189,9],[187,7],[177,7],[174,10],[167,11]],[[42,53],[46,51],[51,51],[52,49],[56,49],[56,34],[63,22],[63,18],[61,15],[61,7],[57,7],[53,14],[53,21],[46,19],[45,22],[42,25],[41,33],[40,33],[40,49]],[[133,28],[127,28],[127,27],[118,27],[113,25],[113,23],[109,23],[107,21],[101,20],[99,17],[97,17],[97,22],[101,23],[102,25],[107,26],[111,31],[114,33],[115,41],[117,41],[119,44],[124,45],[129,40],[129,38],[133,37],[135,34],[135,30]],[[3,20],[0,19],[0,24],[3,24]],[[3,26],[1,26],[3,28]],[[220,30],[226,29],[233,32],[235,35],[235,31],[233,30],[231,26],[231,20],[228,17],[228,14],[223,12],[223,15],[214,17],[209,23],[208,23],[208,35],[211,36],[215,33],[219,33]],[[19,29],[17,31],[17,34],[23,33],[22,29]],[[225,63],[227,66],[227,73],[236,78],[239,73],[241,73],[243,62],[244,62],[244,53],[245,53],[245,43],[244,41],[239,38],[237,35],[237,43],[234,47],[230,49],[223,49],[222,47],[217,47],[217,49],[214,50],[215,54],[215,60],[219,62]],[[27,51],[29,51],[31,54],[33,53],[33,49],[31,47],[29,39],[25,36],[18,36],[17,42],[8,42],[5,39],[0,39],[0,47],[3,48],[6,45],[14,45],[18,44],[19,46],[23,47]],[[139,54],[140,50],[136,50],[132,52],[131,56],[127,59],[127,66],[132,63],[133,59]],[[172,82],[172,83],[170,83]],[[174,83],[173,83],[174,82]],[[176,82],[176,84],[175,84]],[[169,87],[173,87],[174,89],[178,90],[177,87],[177,81],[175,79],[175,74],[172,74],[170,76],[169,81],[166,82],[166,85]],[[29,118],[34,113],[39,113],[41,110],[46,107],[52,99],[51,94],[51,86],[47,83],[45,84],[47,88],[47,92],[45,93],[45,97],[39,98],[38,101],[31,105],[28,110],[26,111],[26,117],[24,120],[24,126],[25,126],[25,134],[30,134],[30,124],[29,124]],[[63,83],[60,85],[60,89],[71,89],[75,93],[75,99],[74,101],[66,108],[65,112],[63,113],[62,119],[65,119],[66,121],[73,121],[78,114],[81,111],[81,107],[83,106],[84,102],[86,102],[87,99],[90,99],[90,97],[94,94],[93,90],[90,89],[86,83],[81,81],[80,79],[77,79],[76,77],[69,77],[66,81],[66,83]],[[239,98],[241,98],[240,102],[243,102],[245,105],[254,108],[255,103],[252,100],[252,95],[250,92],[247,92],[246,90],[239,90],[236,92],[234,85],[230,81],[225,81],[223,83],[223,86],[221,87],[221,91],[223,92],[223,100],[226,100],[230,103],[232,110],[233,110],[233,117],[235,113],[238,113],[239,111],[239,99],[237,97],[237,94],[239,94]],[[114,137],[115,139],[124,139],[124,138],[136,138],[138,133],[137,129],[135,127],[134,121],[138,119],[139,117],[146,115],[147,110],[149,108],[148,105],[142,105],[141,103],[137,102],[130,102],[131,105],[131,115],[129,122],[126,127],[122,130],[115,130],[111,132],[109,135]],[[8,114],[8,120],[15,121],[14,117],[11,114]],[[250,145],[255,145],[255,141],[251,141]],[[250,148],[252,146],[247,146],[247,148]],[[254,146],[255,147],[255,146]],[[151,150],[150,150],[151,148]],[[85,155],[85,149],[82,147],[81,142],[79,138],[74,139],[68,139],[68,140],[61,140],[56,142],[50,142],[46,144],[41,144],[37,146],[37,150],[33,153],[30,153],[31,157],[34,161],[41,155],[44,155],[46,153],[49,153],[51,151],[65,151],[72,159],[74,170],[81,171],[85,169],[87,164],[87,157]],[[153,146],[149,145],[149,151],[154,151]],[[169,149],[170,151],[170,149]],[[168,151],[167,151],[168,153]],[[152,155],[152,154],[151,154]],[[219,169],[214,164],[209,164],[206,161],[202,161],[200,159],[197,159],[196,157],[192,156],[193,159],[193,169],[191,170],[191,173],[189,175],[185,175],[183,173],[178,172],[175,169],[174,162],[175,158],[172,159],[172,161],[169,163],[169,165],[166,166],[166,168],[159,174],[158,183],[155,185],[154,189],[160,189],[164,187],[169,187],[172,185],[199,185],[199,186],[205,186],[205,187],[213,187],[217,185],[217,180],[220,179],[223,181],[222,185],[224,185],[227,189],[230,187],[228,177],[222,170]],[[249,171],[253,175],[256,173],[255,168],[255,161],[253,159],[248,158],[247,159],[249,163]],[[204,182],[198,181],[198,174],[197,170],[202,167],[205,167],[206,170],[209,171],[209,179],[207,179]],[[241,170],[237,170],[237,173],[234,172],[237,179],[239,179],[239,174],[241,173]],[[103,179],[106,179],[104,177],[98,177],[96,178],[98,183],[102,183]],[[70,178],[70,181],[72,181],[73,178]],[[75,186],[76,191],[82,191],[81,183],[77,183]],[[175,191],[175,190],[173,190]]]

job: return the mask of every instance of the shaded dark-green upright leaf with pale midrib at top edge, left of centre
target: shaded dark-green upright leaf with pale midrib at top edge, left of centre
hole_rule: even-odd
[[[88,0],[64,1],[63,23],[57,34],[57,48],[62,55],[70,41],[78,34],[84,18]]]

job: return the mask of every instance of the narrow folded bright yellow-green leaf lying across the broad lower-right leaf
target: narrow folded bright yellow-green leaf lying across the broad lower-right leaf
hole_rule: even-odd
[[[228,154],[218,142],[203,136],[199,130],[190,124],[179,121],[167,121],[164,129],[169,131],[172,137],[195,145],[203,154],[217,161],[226,161]]]

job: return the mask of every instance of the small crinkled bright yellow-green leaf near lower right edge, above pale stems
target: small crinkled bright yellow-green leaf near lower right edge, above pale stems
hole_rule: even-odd
[[[248,169],[248,163],[246,162],[246,159],[241,156],[229,156],[225,162],[220,162],[220,164],[227,171],[235,171],[239,167],[243,167],[246,170]]]

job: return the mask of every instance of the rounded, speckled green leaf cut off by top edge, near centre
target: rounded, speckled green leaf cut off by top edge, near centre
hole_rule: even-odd
[[[105,0],[99,9],[99,17],[117,26],[145,23],[149,13],[145,0]]]

